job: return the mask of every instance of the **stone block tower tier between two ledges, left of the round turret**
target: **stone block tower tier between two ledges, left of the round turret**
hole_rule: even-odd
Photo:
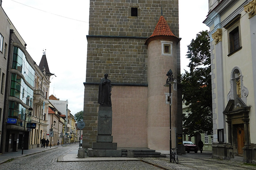
[[[146,83],[145,39],[87,37],[86,82],[99,82],[105,73],[111,82]]]

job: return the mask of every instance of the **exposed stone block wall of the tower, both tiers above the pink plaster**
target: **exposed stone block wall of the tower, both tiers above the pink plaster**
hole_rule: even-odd
[[[138,16],[131,17],[131,8]],[[178,32],[178,0],[90,0],[86,82],[109,73],[112,82],[147,82],[147,47],[161,16]]]

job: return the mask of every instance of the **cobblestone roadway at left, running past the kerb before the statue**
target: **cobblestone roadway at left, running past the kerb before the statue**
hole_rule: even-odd
[[[58,162],[58,157],[78,150],[77,145],[56,147],[0,164],[0,170],[160,170],[143,161],[72,161]]]

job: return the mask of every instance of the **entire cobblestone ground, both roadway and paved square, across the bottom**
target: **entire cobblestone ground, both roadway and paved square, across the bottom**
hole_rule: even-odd
[[[71,144],[23,157],[16,156],[0,164],[0,170],[256,170],[255,165],[212,159],[210,152],[179,155],[179,164],[176,164],[170,163],[169,158],[138,158],[132,161],[127,158],[78,159],[78,148],[77,144]]]

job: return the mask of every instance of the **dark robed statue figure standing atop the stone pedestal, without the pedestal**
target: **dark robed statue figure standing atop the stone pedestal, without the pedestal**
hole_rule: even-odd
[[[98,103],[100,106],[111,107],[111,81],[108,79],[108,74],[104,74],[104,78],[99,82]]]

